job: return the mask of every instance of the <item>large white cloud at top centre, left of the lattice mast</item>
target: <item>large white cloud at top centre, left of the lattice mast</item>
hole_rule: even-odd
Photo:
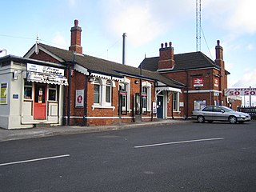
[[[194,10],[190,4],[186,0],[109,0],[107,3],[102,1],[102,10],[110,34],[121,36],[126,33],[133,46],[142,46],[182,23],[187,13]]]

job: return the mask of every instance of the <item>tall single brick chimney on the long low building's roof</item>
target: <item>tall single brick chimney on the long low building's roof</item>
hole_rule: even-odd
[[[82,54],[82,46],[81,46],[81,32],[82,29],[78,26],[78,20],[74,20],[74,26],[71,27],[71,44],[69,50],[73,50],[77,54]]]

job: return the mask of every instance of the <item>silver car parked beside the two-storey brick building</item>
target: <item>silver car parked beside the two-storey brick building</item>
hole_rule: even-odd
[[[205,106],[202,110],[193,110],[192,118],[197,119],[198,122],[230,122],[243,123],[250,121],[250,114],[238,112],[226,106]]]

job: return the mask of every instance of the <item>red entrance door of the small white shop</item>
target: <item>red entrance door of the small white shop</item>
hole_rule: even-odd
[[[34,119],[46,119],[46,84],[34,85]]]

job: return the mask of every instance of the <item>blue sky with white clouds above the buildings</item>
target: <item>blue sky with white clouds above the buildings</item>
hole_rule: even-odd
[[[215,59],[220,40],[228,88],[256,88],[256,1],[202,0],[201,51]],[[1,1],[0,57],[24,56],[39,42],[68,49],[74,19],[82,27],[83,54],[126,65],[159,56],[161,43],[174,54],[196,51],[196,0],[9,0]],[[242,98],[248,105],[249,98]],[[252,97],[256,105],[256,96]]]

